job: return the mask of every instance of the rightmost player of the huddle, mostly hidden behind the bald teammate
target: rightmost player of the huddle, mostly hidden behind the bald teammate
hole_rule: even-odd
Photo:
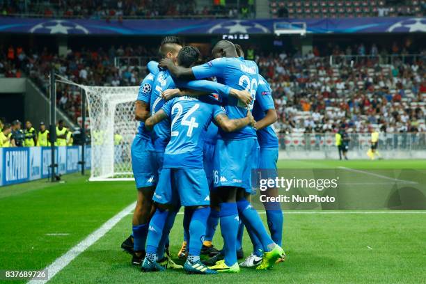
[[[238,56],[244,58],[242,47],[235,45]],[[259,85],[256,91],[255,103],[253,106],[253,117],[256,120],[255,129],[258,135],[259,153],[258,163],[254,166],[260,173],[260,178],[275,179],[277,176],[276,162],[278,160],[278,137],[271,126],[277,120],[272,90],[267,80],[259,75]],[[269,188],[265,192],[267,196],[278,196],[278,189]],[[250,196],[246,196],[250,198]],[[280,203],[264,203],[267,213],[267,223],[271,238],[276,244],[281,246],[283,235],[283,212]],[[244,230],[244,226],[239,228]],[[244,262],[240,263],[240,267],[255,267],[262,261],[262,244],[253,232],[248,230],[251,242],[253,243],[253,253],[249,255]],[[242,231],[239,231],[238,244],[242,244]],[[238,248],[238,247],[237,247]],[[283,261],[283,258],[278,261]]]

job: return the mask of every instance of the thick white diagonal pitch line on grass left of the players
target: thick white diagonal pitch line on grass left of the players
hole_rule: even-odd
[[[123,219],[129,212],[132,212],[134,210],[134,207],[136,205],[136,201],[127,207],[125,209],[121,210],[113,216],[111,219],[109,219],[107,222],[105,222],[100,228],[92,232],[90,235],[86,237],[86,239],[79,242],[76,246],[72,247],[69,251],[67,251],[64,255],[62,255],[59,258],[56,258],[56,260],[52,263],[52,265],[49,265],[45,269],[47,269],[47,273],[49,276],[49,279],[47,280],[31,280],[28,283],[29,284],[36,284],[36,283],[47,283],[50,279],[54,278],[54,276],[61,271],[64,267],[70,264],[74,258],[77,258],[80,253],[86,251],[86,249],[91,246],[92,244],[95,244],[97,240],[99,240],[101,237],[103,237],[109,230],[113,228],[113,226],[116,226],[116,224]]]

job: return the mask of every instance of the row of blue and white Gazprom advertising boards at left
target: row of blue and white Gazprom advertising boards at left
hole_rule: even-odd
[[[86,168],[90,168],[90,146],[86,146]],[[80,146],[56,147],[57,173],[74,173],[80,170]],[[52,163],[49,147],[0,148],[0,186],[48,178]]]

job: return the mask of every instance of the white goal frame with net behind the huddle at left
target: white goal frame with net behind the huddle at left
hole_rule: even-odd
[[[134,119],[139,86],[84,86],[63,77],[56,81],[86,92],[91,140],[89,180],[134,180],[130,150],[139,126]]]

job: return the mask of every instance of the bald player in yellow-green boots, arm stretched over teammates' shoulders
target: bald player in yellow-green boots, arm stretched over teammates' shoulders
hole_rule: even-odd
[[[239,58],[235,45],[227,40],[221,40],[214,46],[212,57],[216,59],[192,68],[176,66],[173,61],[166,59],[163,59],[159,66],[167,68],[173,77],[178,79],[216,77],[221,84],[248,90],[254,99],[258,88],[258,66],[253,61]],[[224,103],[226,113],[231,119],[244,118],[248,109],[253,108],[253,102],[246,109],[235,97],[228,97]],[[216,143],[214,155],[214,187],[220,198],[219,215],[225,258],[210,268],[223,272],[239,272],[236,243],[241,217],[262,243],[262,263],[256,269],[269,269],[284,251],[268,235],[258,212],[245,197],[246,190],[251,192],[252,157],[258,146],[255,129],[246,126],[230,133],[219,129],[219,133],[221,137]]]

